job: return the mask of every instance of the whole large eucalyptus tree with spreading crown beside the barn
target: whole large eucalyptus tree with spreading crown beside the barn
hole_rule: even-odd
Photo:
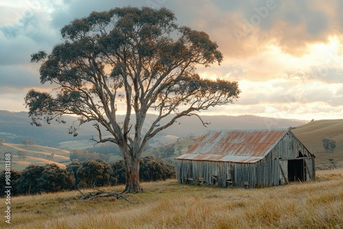
[[[150,138],[180,117],[196,115],[205,125],[200,110],[232,104],[240,93],[237,82],[199,77],[196,66],[220,63],[222,53],[208,34],[175,21],[165,8],[92,12],[64,26],[62,43],[51,53],[31,56],[32,62],[42,62],[41,84],[56,85],[50,93],[27,93],[32,123],[78,115],[78,124],[69,131],[77,134],[79,125],[93,122],[97,143],[110,141],[121,149],[126,192],[142,191],[139,158]],[[126,114],[123,121],[117,118],[119,111]],[[143,132],[148,112],[156,118]]]

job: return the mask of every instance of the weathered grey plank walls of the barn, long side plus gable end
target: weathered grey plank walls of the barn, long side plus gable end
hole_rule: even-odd
[[[250,188],[287,184],[289,160],[301,160],[304,181],[314,180],[314,156],[289,131],[255,163],[178,160],[178,182]]]

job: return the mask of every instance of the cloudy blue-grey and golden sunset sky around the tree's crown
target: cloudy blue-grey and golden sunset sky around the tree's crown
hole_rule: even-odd
[[[48,88],[30,54],[51,51],[63,25],[126,5],[168,8],[217,42],[224,62],[198,73],[239,82],[241,97],[203,114],[343,119],[341,0],[0,0],[0,110],[27,110],[27,91]]]

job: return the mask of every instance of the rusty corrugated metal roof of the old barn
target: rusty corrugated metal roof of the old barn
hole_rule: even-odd
[[[264,158],[288,131],[288,129],[208,131],[198,139],[187,154],[176,159],[254,163]]]

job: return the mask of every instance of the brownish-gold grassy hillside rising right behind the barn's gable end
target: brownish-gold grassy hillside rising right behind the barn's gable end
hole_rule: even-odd
[[[311,121],[300,125],[292,132],[316,156],[316,166],[324,167],[321,163],[329,165],[329,158],[338,161],[343,167],[343,119]],[[333,154],[327,153],[322,145],[322,138],[333,138],[336,149]]]

